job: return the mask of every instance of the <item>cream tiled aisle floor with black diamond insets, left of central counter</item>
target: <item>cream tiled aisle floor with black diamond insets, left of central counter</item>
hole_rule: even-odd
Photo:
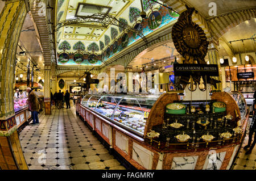
[[[54,108],[52,115],[41,113],[39,121],[27,125],[19,135],[29,169],[125,169],[75,115],[73,108]]]

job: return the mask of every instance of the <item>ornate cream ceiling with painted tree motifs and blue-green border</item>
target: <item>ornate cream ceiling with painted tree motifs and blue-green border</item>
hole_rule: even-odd
[[[139,15],[141,0],[59,0],[56,17],[58,22],[63,22],[96,12],[108,12],[119,22],[142,30],[144,36],[178,18],[175,12],[158,3],[148,0],[142,2],[143,10],[147,14],[146,20],[142,20]],[[58,61],[59,65],[101,65],[113,54],[141,39],[118,26],[103,27],[97,22],[69,24],[59,28],[56,35],[59,60],[63,60]],[[75,48],[78,42],[84,49]]]

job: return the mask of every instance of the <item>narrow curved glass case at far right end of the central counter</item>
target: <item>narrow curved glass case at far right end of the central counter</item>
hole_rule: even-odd
[[[242,124],[242,121],[245,120],[245,116],[246,116],[246,113],[247,113],[247,105],[246,105],[245,98],[242,95],[242,93],[238,92],[238,91],[232,91],[232,92],[230,92],[230,95],[236,101],[236,103],[237,103],[237,105],[240,109],[241,124]]]

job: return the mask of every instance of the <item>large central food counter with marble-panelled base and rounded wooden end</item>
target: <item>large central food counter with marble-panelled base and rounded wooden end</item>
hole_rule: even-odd
[[[163,95],[86,95],[77,114],[137,169],[230,169],[249,113],[239,92],[211,100]]]

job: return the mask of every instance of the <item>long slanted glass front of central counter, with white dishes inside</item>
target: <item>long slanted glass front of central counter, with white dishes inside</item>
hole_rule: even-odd
[[[107,117],[112,123],[142,137],[147,117],[159,96],[86,95],[81,104],[98,112],[102,117]]]

